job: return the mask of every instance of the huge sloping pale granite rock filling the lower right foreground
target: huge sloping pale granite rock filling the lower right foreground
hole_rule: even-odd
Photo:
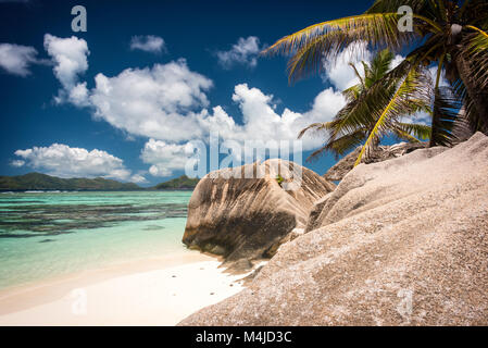
[[[488,137],[361,164],[317,228],[183,325],[487,325]]]

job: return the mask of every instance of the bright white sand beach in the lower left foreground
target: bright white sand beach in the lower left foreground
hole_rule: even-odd
[[[163,261],[0,291],[0,325],[175,325],[242,289],[246,274],[224,273],[210,256]]]

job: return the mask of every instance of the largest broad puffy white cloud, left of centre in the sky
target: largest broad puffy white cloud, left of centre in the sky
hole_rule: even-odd
[[[212,80],[191,72],[185,60],[96,76],[90,92],[95,116],[130,134],[183,141],[201,137],[192,110],[207,107]]]

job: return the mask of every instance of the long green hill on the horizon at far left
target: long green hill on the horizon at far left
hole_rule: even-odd
[[[40,173],[18,176],[0,176],[0,190],[134,190],[141,189],[133,183],[118,183],[102,177],[61,178]]]

